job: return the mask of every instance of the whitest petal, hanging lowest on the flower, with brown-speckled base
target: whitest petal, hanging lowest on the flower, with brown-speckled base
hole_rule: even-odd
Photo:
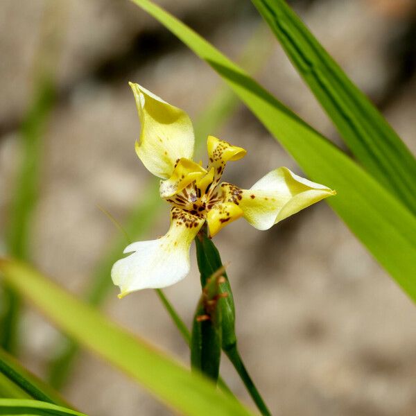
[[[119,297],[145,288],[164,288],[189,272],[189,248],[202,227],[203,218],[179,208],[171,209],[171,227],[157,240],[138,241],[125,248],[132,252],[114,263],[111,277],[120,287]]]

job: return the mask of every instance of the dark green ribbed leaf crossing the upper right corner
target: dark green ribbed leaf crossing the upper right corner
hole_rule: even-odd
[[[416,213],[416,159],[284,0],[252,0],[349,149]],[[347,42],[347,40],[346,40]]]

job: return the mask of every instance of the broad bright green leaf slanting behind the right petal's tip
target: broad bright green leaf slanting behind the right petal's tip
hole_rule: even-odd
[[[336,189],[338,195],[327,200],[329,205],[404,291],[416,300],[415,216],[374,177],[188,26],[148,0],[132,1],[206,60],[311,180]]]

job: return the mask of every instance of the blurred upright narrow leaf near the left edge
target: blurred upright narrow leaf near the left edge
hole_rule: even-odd
[[[51,2],[42,15],[40,32],[37,33],[39,47],[35,51],[31,67],[31,75],[35,80],[35,94],[31,97],[28,112],[20,128],[21,161],[8,213],[6,248],[11,256],[21,260],[28,260],[29,257],[32,218],[40,189],[43,135],[55,103],[55,73],[62,50],[60,46],[64,16],[64,7],[58,6],[56,2]],[[6,306],[3,316],[0,316],[0,346],[16,353],[19,297],[10,288],[5,287],[3,302]]]

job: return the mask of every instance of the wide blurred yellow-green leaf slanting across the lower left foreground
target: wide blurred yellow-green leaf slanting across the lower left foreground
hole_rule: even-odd
[[[125,372],[183,415],[248,416],[250,410],[216,390],[202,374],[121,329],[23,263],[0,261],[4,279],[78,343]]]

